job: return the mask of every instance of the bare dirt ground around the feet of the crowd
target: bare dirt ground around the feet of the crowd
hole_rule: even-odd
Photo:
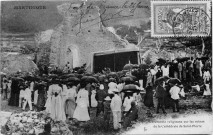
[[[206,113],[212,113],[211,110],[211,100],[212,98],[203,98],[202,96],[191,96],[187,97],[186,99],[180,100],[180,112],[179,113],[173,113],[172,108],[167,108],[166,112],[167,115],[164,115],[162,112],[159,114],[155,113],[155,108],[151,108],[151,114],[152,117],[148,117],[147,110],[148,108],[144,106],[144,104],[141,102],[138,106],[139,108],[139,118],[136,122],[133,122],[132,125],[127,129],[130,130],[134,127],[137,123],[147,123],[150,121],[153,121],[155,119],[161,119],[162,117],[178,117],[182,115],[188,115],[188,114],[197,114],[199,112],[206,112]],[[156,99],[154,99],[154,104],[156,106]],[[21,108],[18,107],[12,107],[7,105],[7,101],[1,102],[1,109],[2,111],[7,112],[21,112]],[[67,121],[69,124],[70,130],[73,132],[74,135],[90,135],[90,134],[96,134],[96,135],[115,135],[115,134],[122,134],[126,130],[121,129],[120,131],[114,131],[113,130],[113,124],[112,124],[112,117],[110,120],[110,128],[106,130],[105,123],[103,121],[103,113],[101,113],[98,117],[96,117],[96,108],[90,109],[90,118],[91,120],[85,123],[76,123],[74,121]]]

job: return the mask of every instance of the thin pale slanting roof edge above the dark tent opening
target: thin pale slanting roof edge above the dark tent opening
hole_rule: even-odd
[[[125,52],[139,52],[139,49],[138,48],[122,48],[122,49],[113,49],[113,50],[106,50],[106,51],[100,51],[100,52],[93,52],[92,54],[94,56],[100,56],[100,55],[125,53]]]

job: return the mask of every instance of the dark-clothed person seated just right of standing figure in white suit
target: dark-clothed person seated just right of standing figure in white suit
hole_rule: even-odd
[[[126,117],[124,118],[123,121],[123,128],[126,129],[127,127],[130,126],[132,121],[135,121],[138,119],[138,108],[136,106],[135,101],[131,102],[131,108],[127,112]]]

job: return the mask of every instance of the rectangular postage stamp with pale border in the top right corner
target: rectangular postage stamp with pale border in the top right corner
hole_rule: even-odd
[[[153,37],[204,37],[211,34],[211,1],[151,1]]]

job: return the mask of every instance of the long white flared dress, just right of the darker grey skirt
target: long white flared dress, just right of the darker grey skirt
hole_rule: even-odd
[[[77,119],[78,121],[88,121],[90,120],[88,107],[89,107],[89,99],[88,99],[88,91],[84,88],[80,89],[77,95],[77,107],[73,114],[73,118]]]

